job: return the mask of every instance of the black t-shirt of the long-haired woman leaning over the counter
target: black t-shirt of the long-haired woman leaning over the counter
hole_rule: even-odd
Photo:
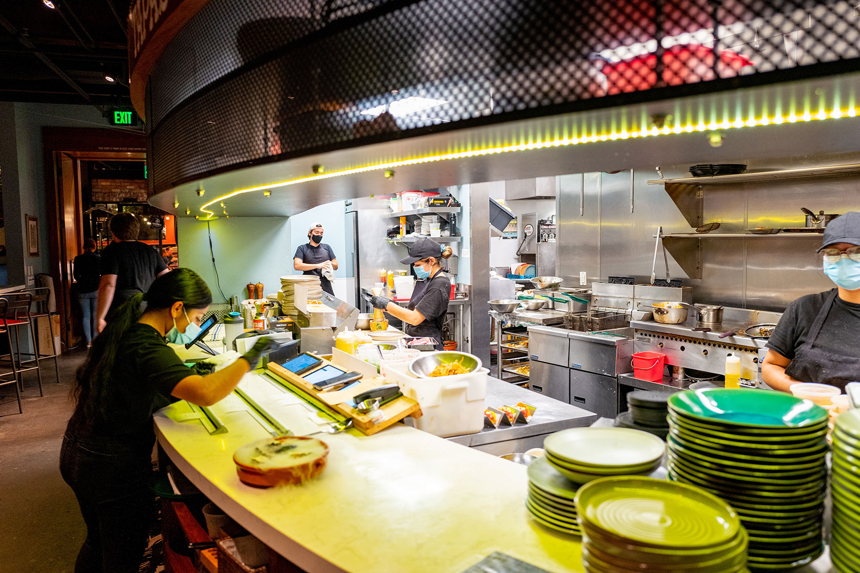
[[[76,411],[66,433],[119,438],[132,446],[152,448],[152,414],[176,401],[170,393],[194,371],[149,325],[132,325],[120,338],[118,348],[106,398],[106,418],[89,422],[82,411]]]

